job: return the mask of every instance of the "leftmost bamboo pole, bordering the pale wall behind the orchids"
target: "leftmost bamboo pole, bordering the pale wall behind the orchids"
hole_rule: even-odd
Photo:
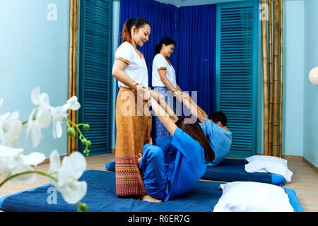
[[[69,98],[72,96],[72,85],[73,85],[73,7],[74,1],[69,1]],[[71,110],[69,110],[69,119],[71,119]],[[71,136],[68,136],[67,143],[67,153],[71,155],[72,147],[71,147],[72,139]]]

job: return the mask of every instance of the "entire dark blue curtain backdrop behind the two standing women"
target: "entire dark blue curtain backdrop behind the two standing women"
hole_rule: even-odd
[[[121,0],[119,32],[128,18],[142,17],[151,23],[149,41],[139,47],[148,66],[151,86],[155,44],[165,36],[176,42],[170,57],[177,84],[197,91],[198,105],[211,114],[216,107],[216,5],[176,7],[153,0]],[[122,40],[119,40],[121,44]]]

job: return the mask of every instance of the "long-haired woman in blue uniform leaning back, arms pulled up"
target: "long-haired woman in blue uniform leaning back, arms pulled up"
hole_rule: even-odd
[[[172,137],[158,145],[147,143],[136,160],[147,193],[168,201],[192,189],[206,172],[208,162],[213,162],[214,152],[193,118],[181,117],[175,121],[153,97],[149,104]]]

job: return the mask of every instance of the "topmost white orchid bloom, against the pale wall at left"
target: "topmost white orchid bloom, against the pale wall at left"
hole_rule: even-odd
[[[35,109],[33,109],[28,119],[25,140],[28,139],[31,131],[33,147],[37,147],[43,137],[41,129],[47,128],[52,118],[51,113],[49,112],[49,95],[47,95],[47,93],[40,93],[40,88],[36,87],[32,90],[31,100],[35,105]],[[36,119],[33,121],[36,109]]]

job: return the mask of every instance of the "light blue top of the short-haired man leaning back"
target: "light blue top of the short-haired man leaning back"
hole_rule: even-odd
[[[206,133],[208,143],[210,143],[211,148],[215,153],[213,162],[209,162],[208,166],[218,165],[225,159],[226,155],[228,155],[230,151],[232,133],[221,128],[208,118],[204,120],[204,124],[200,125],[204,133]]]

